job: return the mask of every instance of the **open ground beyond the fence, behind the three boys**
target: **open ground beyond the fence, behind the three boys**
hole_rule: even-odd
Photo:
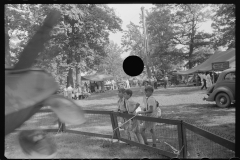
[[[133,99],[142,103],[139,88],[132,88]],[[155,99],[159,102],[163,118],[179,119],[195,124],[216,134],[221,134],[235,141],[235,106],[219,108],[215,102],[203,101],[206,90],[200,87],[159,88],[154,91]],[[117,91],[92,95],[88,100],[77,103],[85,109],[116,110]],[[221,133],[220,133],[221,132]]]

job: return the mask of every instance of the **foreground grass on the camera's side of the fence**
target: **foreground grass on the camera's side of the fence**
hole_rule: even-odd
[[[54,158],[166,158],[155,152],[127,146],[125,143],[114,142],[111,146],[104,148],[103,144],[109,142],[103,138],[68,133],[52,136],[58,147]],[[7,158],[27,158],[21,153],[16,143],[16,134],[11,134],[6,138],[6,144],[10,143],[14,145],[7,147],[8,152],[5,152]]]

